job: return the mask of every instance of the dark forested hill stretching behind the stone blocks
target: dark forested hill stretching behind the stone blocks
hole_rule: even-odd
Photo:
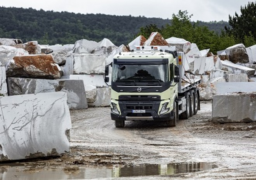
[[[160,18],[0,7],[0,37],[40,44],[73,44],[79,39],[99,42],[106,37],[119,46],[133,40],[142,26],[156,24],[161,28],[170,23],[170,20]],[[228,22],[200,24],[220,32]]]

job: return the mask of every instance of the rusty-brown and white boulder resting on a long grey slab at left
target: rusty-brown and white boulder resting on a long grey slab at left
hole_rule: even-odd
[[[51,55],[15,56],[6,66],[8,77],[61,78],[59,66]]]

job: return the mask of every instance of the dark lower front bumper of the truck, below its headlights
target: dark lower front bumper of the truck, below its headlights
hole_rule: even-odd
[[[121,115],[111,112],[111,119],[114,121],[168,121],[173,118],[172,112],[158,115],[154,110],[146,110],[146,113],[132,113],[131,110],[124,110]]]

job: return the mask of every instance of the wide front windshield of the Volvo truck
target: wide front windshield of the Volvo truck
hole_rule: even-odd
[[[113,82],[167,82],[167,64],[164,65],[113,65]]]

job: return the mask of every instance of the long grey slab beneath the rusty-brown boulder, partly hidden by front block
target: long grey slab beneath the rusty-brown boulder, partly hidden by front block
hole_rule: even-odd
[[[83,80],[7,78],[9,95],[36,94],[45,92],[67,92],[69,109],[87,109]]]

